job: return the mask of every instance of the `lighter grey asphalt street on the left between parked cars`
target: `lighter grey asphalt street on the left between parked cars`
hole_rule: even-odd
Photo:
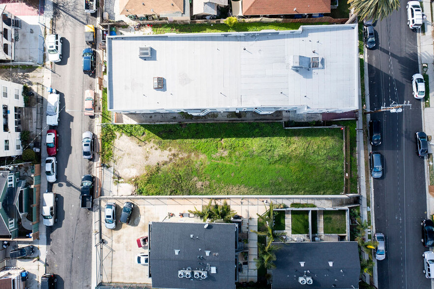
[[[80,110],[84,90],[94,89],[95,79],[83,73],[81,55],[84,27],[95,25],[96,18],[84,12],[83,1],[57,1],[54,10],[53,32],[63,37],[63,58],[53,65],[52,77],[52,87],[60,93],[58,181],[53,185],[59,200],[58,222],[47,228],[46,271],[58,275],[58,288],[90,288],[92,213],[80,208],[80,183],[83,174],[94,174],[81,147],[82,133],[93,131],[93,118]]]

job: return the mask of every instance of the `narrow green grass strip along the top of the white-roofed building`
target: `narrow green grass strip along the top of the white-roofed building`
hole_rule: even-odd
[[[318,23],[261,23],[261,22],[238,22],[233,27],[224,23],[217,24],[163,24],[152,27],[154,34],[164,33],[205,33],[205,32],[246,32],[260,31],[265,29],[296,30],[302,25],[328,25],[327,22]]]

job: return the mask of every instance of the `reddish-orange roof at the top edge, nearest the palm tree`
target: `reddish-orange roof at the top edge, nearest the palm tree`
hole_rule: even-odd
[[[330,0],[242,0],[242,6],[243,15],[330,13]]]

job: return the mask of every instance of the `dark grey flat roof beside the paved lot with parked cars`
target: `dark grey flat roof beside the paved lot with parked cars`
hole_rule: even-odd
[[[235,224],[149,223],[152,288],[235,288]]]

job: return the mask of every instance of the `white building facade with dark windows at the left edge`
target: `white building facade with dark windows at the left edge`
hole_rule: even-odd
[[[0,127],[0,157],[22,154],[21,113],[24,107],[23,85],[0,80],[3,125]]]

